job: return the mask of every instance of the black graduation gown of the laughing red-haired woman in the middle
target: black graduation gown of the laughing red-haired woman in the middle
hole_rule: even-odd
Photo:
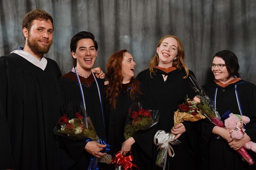
[[[108,100],[105,103],[106,124],[108,127],[107,141],[110,144],[109,154],[112,156],[115,156],[115,154],[121,150],[122,142],[125,141],[124,127],[126,125],[128,109],[131,104],[140,102],[143,105],[143,96],[137,94],[137,98],[133,101],[129,95],[130,89],[127,91],[129,87],[127,87],[127,85],[123,85],[123,87],[125,87],[125,89],[122,90],[116,98],[115,111],[111,109],[112,106],[109,104]],[[148,144],[150,142],[145,142],[148,139],[148,133],[146,131],[147,130],[140,130],[134,134],[133,138],[135,143],[131,147],[131,154],[134,156],[134,161],[131,161],[131,163],[140,167],[140,170],[147,170],[148,163],[151,161],[151,155],[148,155]],[[109,169],[114,169],[114,167],[110,166]]]

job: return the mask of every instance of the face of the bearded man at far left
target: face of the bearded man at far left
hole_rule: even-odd
[[[26,38],[24,51],[42,57],[52,45],[53,26],[50,20],[34,20],[30,30],[23,28]]]

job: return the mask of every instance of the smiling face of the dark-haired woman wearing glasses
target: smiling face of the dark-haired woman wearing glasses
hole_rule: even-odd
[[[213,64],[225,64],[225,61],[221,57],[215,56],[212,60],[212,63]],[[216,65],[214,68],[212,68],[212,73],[214,74],[214,77],[216,80],[218,80],[224,84],[233,79],[233,77],[230,77],[227,79],[227,77],[229,77],[230,73],[227,71],[226,65],[221,69],[218,68],[218,66]]]

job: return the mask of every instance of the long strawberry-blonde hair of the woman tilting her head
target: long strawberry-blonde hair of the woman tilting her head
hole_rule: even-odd
[[[165,40],[166,38],[174,38],[175,40],[177,40],[178,43],[178,54],[176,56],[175,61],[172,62],[172,66],[176,67],[177,69],[182,69],[184,68],[186,71],[186,76],[183,77],[183,79],[186,79],[189,76],[189,68],[185,63],[185,53],[184,53],[184,49],[183,49],[183,45],[181,44],[180,40],[178,37],[176,37],[175,35],[166,35],[165,37],[161,38],[161,40],[159,41],[157,47],[160,47],[160,45],[162,44],[163,40]],[[150,71],[150,77],[152,77],[152,74],[155,75],[156,71],[154,71],[154,66],[157,66],[159,64],[159,57],[157,54],[157,51],[154,55],[154,57],[150,60],[149,65],[148,65],[148,69]]]

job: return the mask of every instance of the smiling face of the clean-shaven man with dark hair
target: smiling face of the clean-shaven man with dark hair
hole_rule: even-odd
[[[90,73],[97,57],[97,51],[92,39],[81,39],[77,42],[76,51],[72,51],[73,58],[76,59],[76,67],[79,72],[87,75]]]

